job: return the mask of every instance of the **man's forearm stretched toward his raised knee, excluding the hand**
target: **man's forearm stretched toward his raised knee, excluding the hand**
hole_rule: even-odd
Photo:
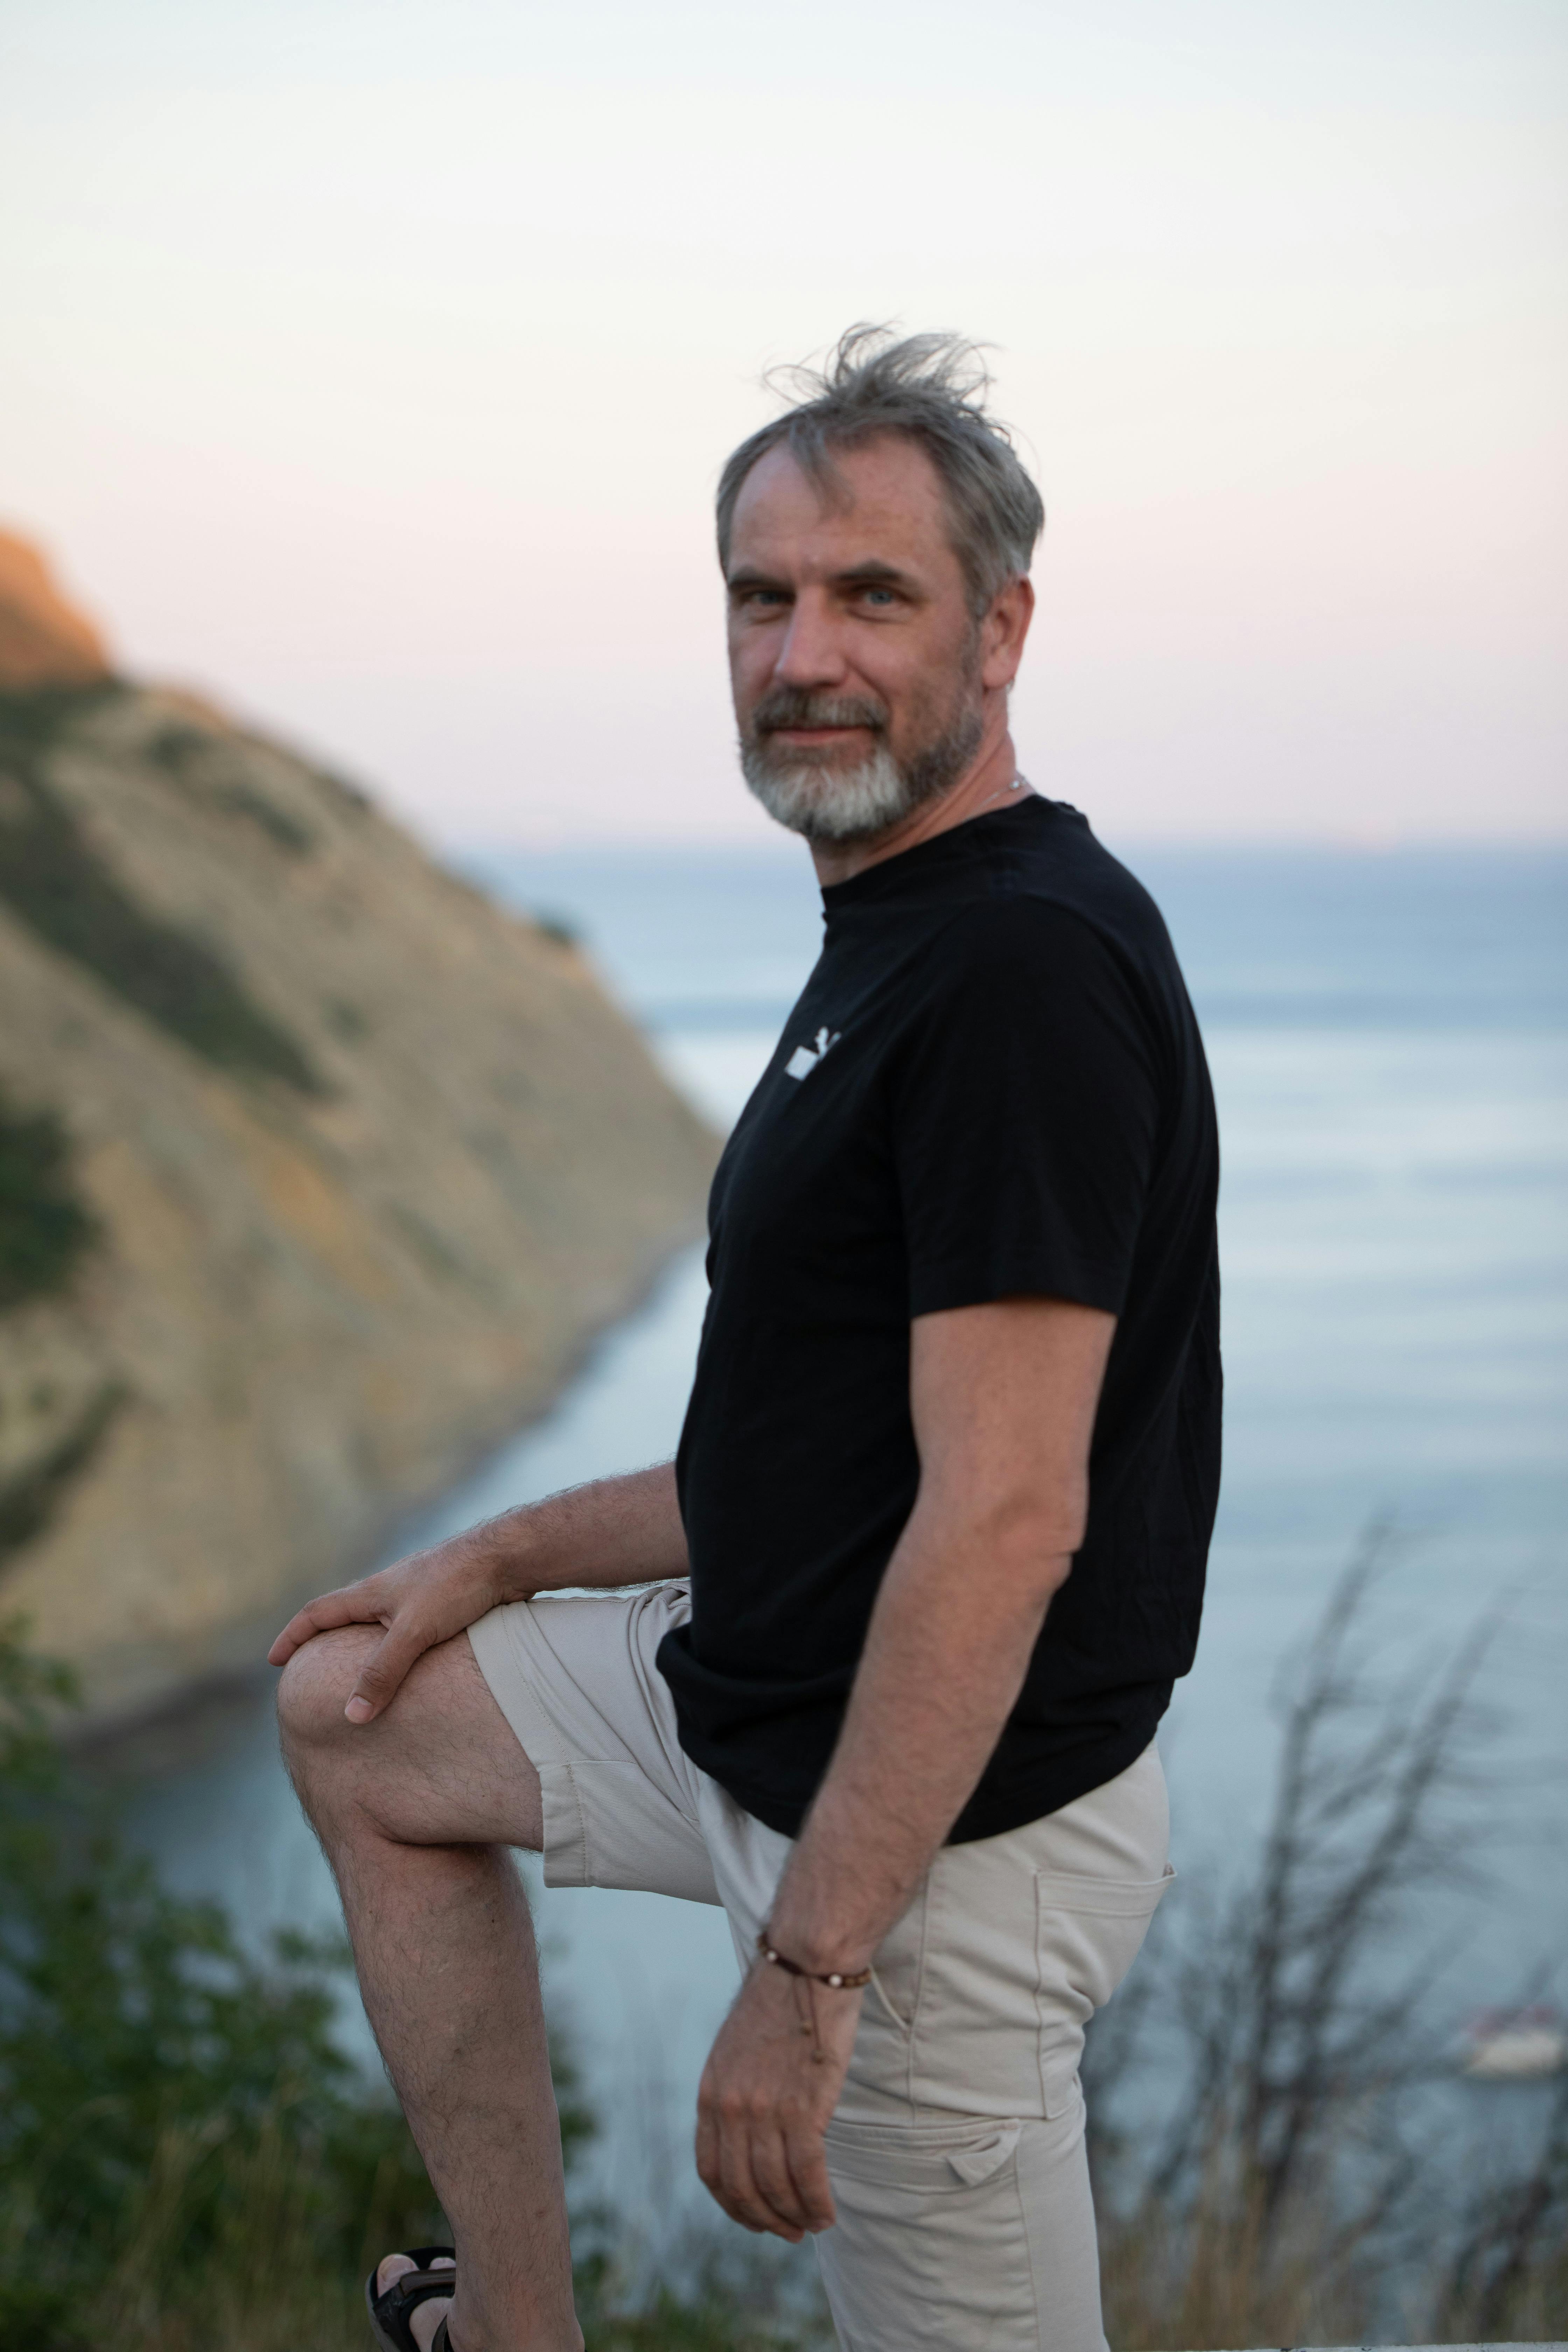
[[[649,1585],[689,1569],[675,1463],[520,1503],[461,1541],[496,1559],[505,1599],[562,1585]]]

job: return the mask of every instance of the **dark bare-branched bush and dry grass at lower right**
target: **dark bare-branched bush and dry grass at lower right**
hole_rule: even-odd
[[[1387,1978],[1389,1931],[1410,1950],[1401,1907],[1462,1867],[1488,1632],[1378,1682],[1368,1599],[1387,1566],[1373,1531],[1291,1665],[1255,1860],[1206,1910],[1157,1922],[1091,2032],[1117,2352],[1568,2336],[1568,2077],[1535,2138],[1514,2133],[1514,2169],[1476,2187],[1462,2110],[1434,2107],[1441,1952]],[[1154,2119],[1150,2065],[1171,2086]]]

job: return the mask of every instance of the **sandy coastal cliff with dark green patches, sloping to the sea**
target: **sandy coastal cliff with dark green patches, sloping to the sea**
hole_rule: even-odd
[[[0,539],[0,1616],[96,1719],[543,1409],[712,1155],[571,941]]]

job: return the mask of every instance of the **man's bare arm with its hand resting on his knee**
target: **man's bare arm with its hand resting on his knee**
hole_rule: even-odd
[[[289,1618],[268,1658],[287,1665],[313,1635],[334,1625],[386,1625],[346,1708],[350,1722],[369,1724],[421,1651],[449,1642],[501,1602],[527,1602],[562,1585],[649,1585],[684,1573],[675,1463],[658,1463],[569,1486],[543,1503],[520,1503],[324,1592]]]

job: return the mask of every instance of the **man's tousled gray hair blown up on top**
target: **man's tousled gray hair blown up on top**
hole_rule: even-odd
[[[832,496],[842,492],[835,449],[879,433],[905,433],[926,452],[947,494],[952,550],[964,567],[976,621],[999,588],[1027,574],[1046,510],[1013,435],[985,414],[992,379],[978,343],[959,334],[896,339],[891,327],[858,325],[839,336],[820,369],[776,369],[764,381],[769,390],[792,393],[795,405],[743,440],[719,475],[724,569],[741,485],[769,449],[788,449]]]

